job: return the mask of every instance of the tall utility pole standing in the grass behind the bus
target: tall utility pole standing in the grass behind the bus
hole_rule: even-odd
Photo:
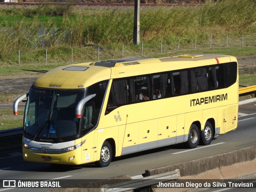
[[[140,44],[140,0],[134,1],[133,44]]]

